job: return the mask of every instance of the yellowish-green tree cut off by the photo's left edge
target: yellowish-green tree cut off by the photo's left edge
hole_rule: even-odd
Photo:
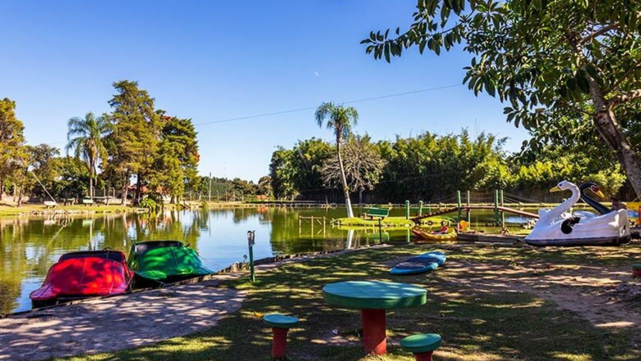
[[[15,101],[0,100],[0,200],[5,182],[19,166],[19,152],[24,144],[22,121],[15,117]]]

